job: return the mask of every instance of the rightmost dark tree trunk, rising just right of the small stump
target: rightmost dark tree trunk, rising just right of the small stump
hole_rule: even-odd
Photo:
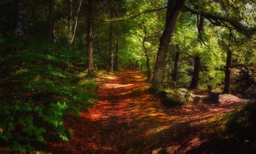
[[[231,67],[231,62],[232,62],[232,51],[227,49],[227,60],[226,60],[226,69],[225,69],[225,84],[224,84],[224,90],[223,93],[229,93],[230,89],[230,67]]]

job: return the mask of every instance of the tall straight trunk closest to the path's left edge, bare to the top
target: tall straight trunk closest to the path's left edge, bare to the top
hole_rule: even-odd
[[[87,4],[87,68],[88,74],[93,71],[93,0]]]

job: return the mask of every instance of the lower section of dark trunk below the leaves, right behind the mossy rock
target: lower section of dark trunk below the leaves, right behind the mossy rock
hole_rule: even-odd
[[[199,56],[196,56],[194,60],[195,60],[195,65],[194,65],[193,78],[190,84],[191,89],[197,88],[198,81],[199,81],[200,65],[201,65],[201,58]]]

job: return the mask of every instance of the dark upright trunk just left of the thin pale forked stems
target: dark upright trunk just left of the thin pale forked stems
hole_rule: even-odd
[[[50,0],[49,4],[49,38],[51,43],[56,43],[55,37],[55,9],[56,9],[56,2],[55,0]]]

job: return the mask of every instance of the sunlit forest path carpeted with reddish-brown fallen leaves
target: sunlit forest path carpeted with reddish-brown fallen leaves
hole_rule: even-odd
[[[108,73],[105,73],[107,76]],[[66,118],[73,130],[69,142],[51,142],[53,153],[186,153],[209,138],[214,116],[234,110],[244,100],[221,95],[220,103],[197,99],[166,107],[148,90],[140,71],[121,70],[97,79],[98,103]],[[194,96],[206,97],[202,92]]]

